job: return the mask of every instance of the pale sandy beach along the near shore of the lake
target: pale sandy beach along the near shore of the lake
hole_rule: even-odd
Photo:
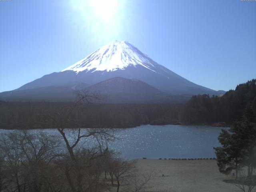
[[[138,159],[138,171],[142,174],[154,172],[148,183],[148,191],[163,192],[240,192],[224,182],[231,176],[218,171],[216,160],[156,160]],[[164,174],[164,176],[162,176]],[[255,189],[253,190],[255,191]]]

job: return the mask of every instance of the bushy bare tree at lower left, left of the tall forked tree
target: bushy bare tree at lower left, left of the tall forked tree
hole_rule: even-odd
[[[27,188],[34,192],[45,190],[46,184],[50,184],[45,181],[46,172],[50,170],[49,164],[56,157],[58,140],[44,134],[35,135],[23,131],[13,142],[16,142],[26,158],[22,165]]]

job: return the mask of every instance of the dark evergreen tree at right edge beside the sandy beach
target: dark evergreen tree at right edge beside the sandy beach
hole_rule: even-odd
[[[256,113],[252,102],[248,103],[243,119],[235,122],[231,128],[222,130],[218,140],[222,147],[215,149],[218,167],[221,173],[229,174],[246,166],[248,176],[252,176],[253,168],[256,168]]]

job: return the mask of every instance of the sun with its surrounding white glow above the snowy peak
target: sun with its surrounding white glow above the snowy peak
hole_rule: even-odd
[[[76,30],[90,33],[94,42],[122,40],[128,33],[133,0],[69,0],[70,19]],[[129,4],[128,4],[129,2]]]

